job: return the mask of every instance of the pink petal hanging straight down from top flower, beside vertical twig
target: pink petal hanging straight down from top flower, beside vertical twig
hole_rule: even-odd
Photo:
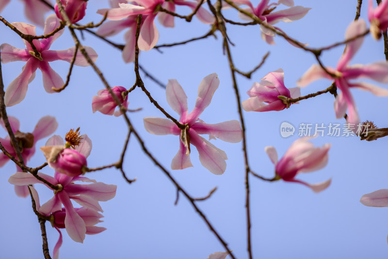
[[[158,42],[159,32],[155,26],[155,16],[156,14],[147,16],[142,25],[139,40],[137,41],[140,50],[148,51],[154,48]]]

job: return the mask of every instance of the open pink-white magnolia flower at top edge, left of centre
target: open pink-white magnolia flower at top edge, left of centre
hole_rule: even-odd
[[[138,15],[143,15],[144,22],[142,24],[138,45],[139,49],[141,50],[150,50],[154,48],[156,43],[159,39],[159,32],[158,29],[155,26],[155,17],[157,16],[157,7],[158,5],[162,5],[164,3],[164,0],[135,0],[139,5],[134,5],[130,3],[119,3],[119,8],[112,8],[112,9],[99,9],[97,10],[97,14],[105,15],[106,12],[108,12],[107,18],[110,20],[122,20],[123,23],[118,23],[119,27],[126,26],[131,27],[130,33],[131,35],[126,35],[125,37],[128,38],[128,40],[131,41],[131,45],[133,47],[135,46],[133,44],[132,37],[134,36],[136,30],[136,25],[133,25],[133,21],[136,19]],[[134,28],[133,28],[134,27]],[[107,28],[103,28],[106,30]],[[101,31],[103,30],[101,29]],[[102,33],[100,31],[100,33]],[[116,31],[116,30],[114,30]],[[127,40],[127,45],[129,45]],[[124,54],[123,54],[124,55]]]

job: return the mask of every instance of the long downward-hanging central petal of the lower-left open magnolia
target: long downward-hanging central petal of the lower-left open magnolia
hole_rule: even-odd
[[[81,216],[74,210],[70,198],[65,191],[58,194],[59,199],[66,209],[65,227],[69,237],[78,243],[83,243],[85,239],[86,226]]]

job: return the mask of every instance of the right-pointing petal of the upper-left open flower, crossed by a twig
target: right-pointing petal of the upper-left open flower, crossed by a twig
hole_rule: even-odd
[[[97,60],[97,53],[94,49],[84,46],[86,52],[90,56],[93,62],[96,62]],[[75,47],[71,47],[70,49],[65,50],[45,50],[42,51],[42,58],[44,61],[51,62],[56,60],[64,60],[68,63],[71,62],[73,59]],[[90,64],[86,61],[85,57],[82,55],[81,51],[77,51],[76,61],[74,62],[74,65],[79,66],[89,66]]]

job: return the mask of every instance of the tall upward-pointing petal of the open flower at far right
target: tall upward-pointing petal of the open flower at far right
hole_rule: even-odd
[[[353,21],[345,32],[345,39],[350,39],[355,37],[367,30],[367,25],[363,19],[358,19]],[[349,64],[350,60],[356,54],[357,50],[361,47],[364,37],[360,37],[354,41],[346,44],[345,52],[342,54],[342,57],[339,59],[337,64],[337,70],[342,71],[346,65]]]

